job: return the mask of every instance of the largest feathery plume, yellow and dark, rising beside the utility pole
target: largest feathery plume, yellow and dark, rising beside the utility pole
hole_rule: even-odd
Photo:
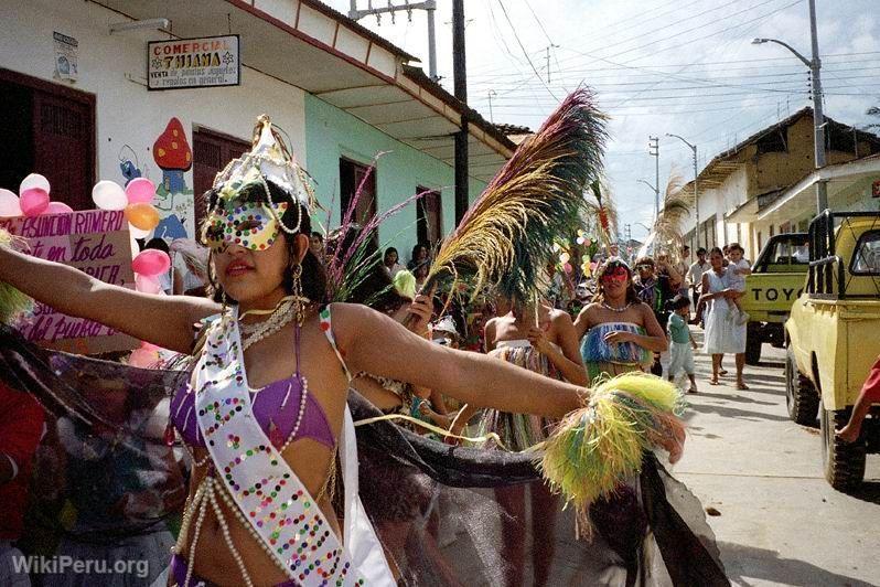
[[[554,237],[573,233],[584,192],[602,173],[607,117],[578,89],[516,149],[434,256],[422,291],[441,282],[486,288],[528,301],[552,256]]]

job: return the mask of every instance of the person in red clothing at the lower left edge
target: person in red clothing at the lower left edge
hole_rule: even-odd
[[[0,383],[0,585],[24,587],[26,573],[15,569],[23,557],[14,542],[24,530],[31,461],[43,435],[43,409],[29,394]]]

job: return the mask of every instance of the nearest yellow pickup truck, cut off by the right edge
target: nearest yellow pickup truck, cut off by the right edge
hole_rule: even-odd
[[[880,354],[880,212],[825,211],[808,236],[804,292],[785,322],[786,399],[798,424],[815,424],[818,412],[825,478],[846,490],[862,481],[866,453],[880,451],[878,412],[859,441],[835,436]]]

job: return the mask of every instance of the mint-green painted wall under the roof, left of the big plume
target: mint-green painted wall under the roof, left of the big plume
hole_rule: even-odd
[[[378,211],[382,213],[416,193],[421,185],[440,190],[443,204],[443,230],[449,233],[455,223],[454,171],[354,116],[320,98],[305,94],[305,168],[315,180],[315,195],[323,206],[333,202],[331,226],[340,224],[340,158],[345,157],[369,164],[377,153],[384,152],[376,164]],[[471,180],[471,201],[485,188]],[[326,212],[314,220],[322,224]],[[379,227],[383,247],[394,246],[404,263],[416,244],[416,206],[404,209]]]

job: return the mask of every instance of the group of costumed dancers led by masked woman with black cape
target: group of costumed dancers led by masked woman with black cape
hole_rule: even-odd
[[[430,296],[386,295],[382,311],[326,303],[324,267],[309,246],[308,178],[268,119],[206,196],[208,297],[141,294],[0,247],[0,281],[186,357],[174,371],[146,371],[0,333],[3,383],[33,394],[60,428],[106,437],[107,421],[147,415],[103,445],[161,471],[162,499],[149,515],[126,501],[130,519],[168,522],[181,502],[172,485],[187,480],[167,573],[150,581],[726,584],[698,502],[651,452],[590,504],[590,527],[577,533],[583,520],[562,508],[566,497],[548,489],[528,452],[560,418],[592,405],[591,386],[644,371],[666,349],[625,263],[602,265],[597,300],[576,320],[509,300],[485,327],[487,353],[462,352],[422,335],[437,317]],[[127,416],[114,420],[99,391]],[[466,406],[448,421],[455,436],[479,413],[483,445],[453,448],[387,418],[411,413],[416,397]],[[168,426],[157,434],[150,415],[163,408]],[[656,436],[672,462],[683,442],[672,430]],[[171,472],[179,448],[182,474]]]

